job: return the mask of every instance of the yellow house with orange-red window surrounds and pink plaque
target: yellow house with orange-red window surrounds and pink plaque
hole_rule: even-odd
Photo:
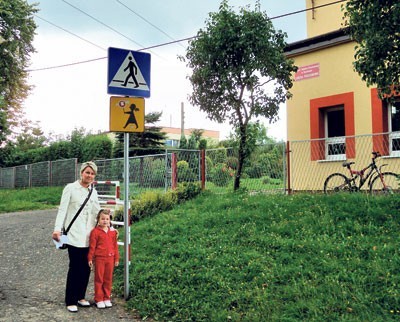
[[[344,2],[330,3],[306,0],[307,39],[285,50],[298,66],[287,102],[293,190],[322,190],[330,173],[346,173],[344,160],[361,169],[372,151],[385,156],[388,170],[398,167],[400,102],[381,101],[353,70],[356,43],[342,29]]]

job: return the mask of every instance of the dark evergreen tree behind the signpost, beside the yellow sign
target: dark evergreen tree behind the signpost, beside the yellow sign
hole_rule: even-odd
[[[129,156],[160,153],[164,149],[166,134],[161,132],[161,127],[155,126],[161,118],[162,112],[151,112],[145,115],[145,130],[143,133],[129,134]],[[124,135],[117,134],[115,157],[124,155]]]

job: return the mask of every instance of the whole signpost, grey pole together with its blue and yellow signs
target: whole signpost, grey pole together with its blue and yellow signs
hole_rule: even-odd
[[[124,95],[110,98],[110,132],[124,133],[124,297],[129,298],[130,206],[129,132],[144,132],[144,97],[150,97],[148,53],[108,48],[107,93]],[[133,96],[133,97],[131,97]]]

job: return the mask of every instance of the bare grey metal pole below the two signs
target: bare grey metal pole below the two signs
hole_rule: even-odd
[[[131,233],[129,226],[129,133],[124,133],[124,298],[129,298],[129,245]]]

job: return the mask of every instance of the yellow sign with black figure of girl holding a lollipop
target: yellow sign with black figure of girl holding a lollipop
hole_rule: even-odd
[[[144,132],[144,98],[111,96],[110,131]]]

